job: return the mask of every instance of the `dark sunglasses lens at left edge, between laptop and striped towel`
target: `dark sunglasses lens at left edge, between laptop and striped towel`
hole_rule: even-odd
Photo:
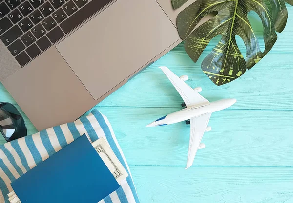
[[[20,111],[7,102],[0,103],[0,133],[7,142],[25,137],[27,134]]]

